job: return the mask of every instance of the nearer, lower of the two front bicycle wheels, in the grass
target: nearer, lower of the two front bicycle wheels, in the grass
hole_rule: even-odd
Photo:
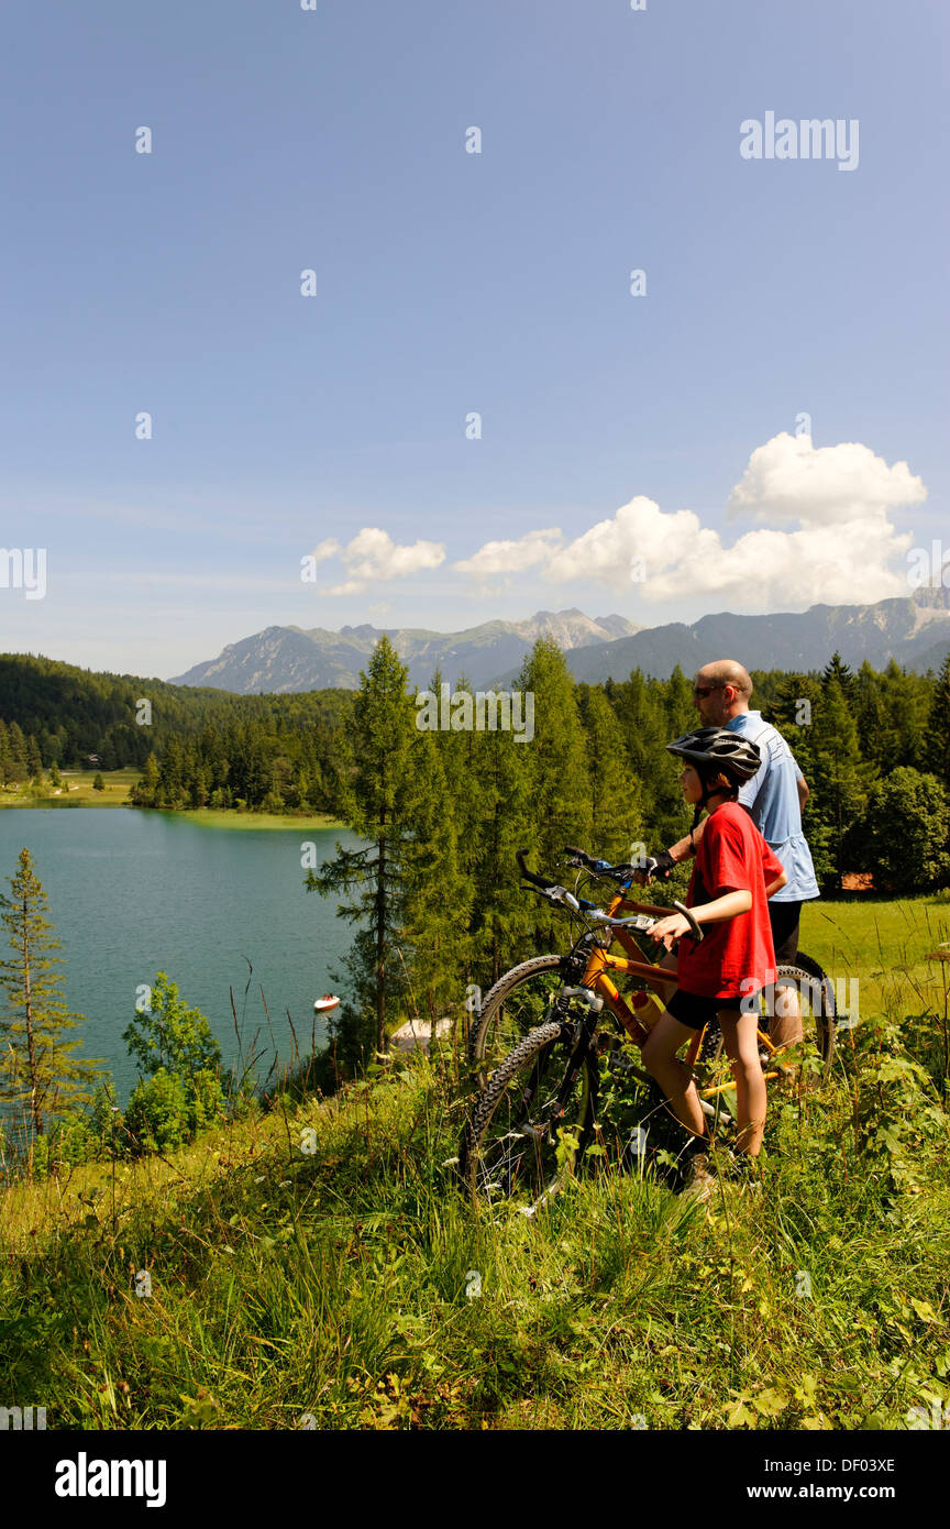
[[[559,1023],[533,1031],[495,1069],[463,1136],[458,1171],[472,1199],[533,1214],[576,1171],[596,1107],[586,1035]]]

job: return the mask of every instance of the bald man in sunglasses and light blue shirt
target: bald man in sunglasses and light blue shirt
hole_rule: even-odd
[[[748,709],[751,679],[735,659],[716,659],[706,664],[693,680],[693,706],[703,719],[703,726],[729,728],[762,754],[762,766],[750,781],[739,789],[739,803],[748,807],[759,833],[782,862],[787,881],[780,891],[768,899],[768,919],[776,951],[776,965],[794,965],[799,953],[799,919],[802,904],[819,896],[819,884],[811,862],[811,852],[802,832],[802,807],[808,800],[808,783],[796,764],[794,755],[780,732],[762,722],[761,711]],[[706,821],[706,820],[704,820]],[[695,852],[695,841],[703,835],[704,823],[658,855],[658,868],[687,859]],[[776,1015],[770,1024],[770,1037],[776,1046],[791,1046],[802,1040],[802,1015],[794,988],[782,988],[776,997]]]

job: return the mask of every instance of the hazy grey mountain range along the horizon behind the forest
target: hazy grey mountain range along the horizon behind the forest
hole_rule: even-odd
[[[451,685],[463,676],[477,690],[510,685],[542,636],[553,638],[574,677],[588,683],[623,680],[634,668],[667,679],[677,664],[693,674],[715,657],[735,657],[748,668],[820,670],[835,650],[852,667],[868,659],[874,668],[884,668],[893,657],[904,668],[926,673],[938,670],[950,650],[950,590],[924,587],[874,605],[811,605],[765,616],[722,612],[661,627],[637,627],[616,615],[539,610],[528,621],[487,621],[464,631],[403,627],[385,628],[385,635],[417,688],[425,688],[437,668]],[[370,625],[339,631],[266,627],[171,683],[238,694],[356,690],[380,636],[383,628]]]

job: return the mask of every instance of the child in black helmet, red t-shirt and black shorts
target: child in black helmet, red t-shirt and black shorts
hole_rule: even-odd
[[[643,1044],[643,1064],[693,1133],[689,1182],[706,1199],[712,1185],[703,1153],[706,1118],[677,1052],[718,1017],[736,1079],[736,1168],[748,1170],[762,1145],[767,1099],[758,1015],[741,1012],[741,1000],[774,983],[768,898],[785,885],[785,872],[736,801],[742,781],[762,763],[756,745],[727,728],[700,728],[666,748],[684,761],[680,787],[695,809],[693,830],[703,810],[709,812],[686,898],[704,939],[700,945],[683,939],[689,924],[681,913],[654,925],[652,939],[667,950],[680,939],[678,989]]]

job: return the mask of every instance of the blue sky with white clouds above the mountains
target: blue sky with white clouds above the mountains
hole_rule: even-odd
[[[47,575],[2,650],[171,676],[272,624],[802,610],[950,546],[938,3],[5,34],[2,540]],[[857,119],[857,168],[744,159],[770,110]]]

